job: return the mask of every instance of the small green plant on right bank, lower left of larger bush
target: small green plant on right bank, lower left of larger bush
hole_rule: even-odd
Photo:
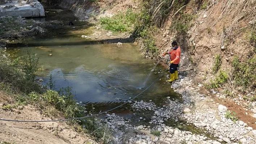
[[[210,80],[210,88],[221,87],[228,80],[228,75],[225,71],[219,71],[218,76],[214,80]]]

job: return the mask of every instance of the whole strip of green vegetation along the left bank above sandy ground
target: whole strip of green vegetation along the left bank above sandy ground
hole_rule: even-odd
[[[15,104],[4,105],[8,110],[19,105],[35,105],[49,117],[84,117],[85,109],[76,103],[71,88],[54,91],[52,79],[48,88],[40,86],[35,80],[38,57],[29,51],[24,56],[11,59],[7,52],[0,49],[0,90],[16,100]],[[99,126],[94,118],[78,119],[69,122],[77,131],[90,134],[100,143],[108,143],[110,134],[105,126]]]

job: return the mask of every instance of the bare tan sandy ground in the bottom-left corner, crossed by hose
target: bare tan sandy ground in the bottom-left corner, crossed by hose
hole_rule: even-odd
[[[0,118],[19,120],[50,119],[43,117],[33,106],[0,109]],[[93,143],[85,134],[74,131],[65,122],[8,122],[0,121],[0,141],[15,144],[84,144]]]

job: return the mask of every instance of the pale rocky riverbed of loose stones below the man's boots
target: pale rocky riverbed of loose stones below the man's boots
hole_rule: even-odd
[[[183,100],[166,97],[166,105],[156,106],[151,101],[132,101],[131,108],[137,112],[152,113],[151,117],[140,117],[139,121],[149,121],[148,124],[135,126],[130,119],[124,119],[116,114],[107,114],[102,123],[114,133],[116,144],[172,144],[172,143],[202,143],[202,144],[255,144],[256,130],[243,121],[231,121],[226,118],[228,109],[215,103],[211,97],[200,94],[199,84],[192,87],[192,80],[185,77],[172,83],[172,88],[182,95]],[[191,125],[202,131],[201,134],[179,130],[168,126],[167,121],[181,125]],[[181,123],[185,122],[185,123]],[[212,137],[209,137],[210,134]]]

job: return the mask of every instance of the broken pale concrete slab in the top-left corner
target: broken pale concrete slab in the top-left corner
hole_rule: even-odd
[[[14,0],[11,3],[0,5],[0,17],[12,16],[12,17],[44,17],[43,5],[37,0]]]

